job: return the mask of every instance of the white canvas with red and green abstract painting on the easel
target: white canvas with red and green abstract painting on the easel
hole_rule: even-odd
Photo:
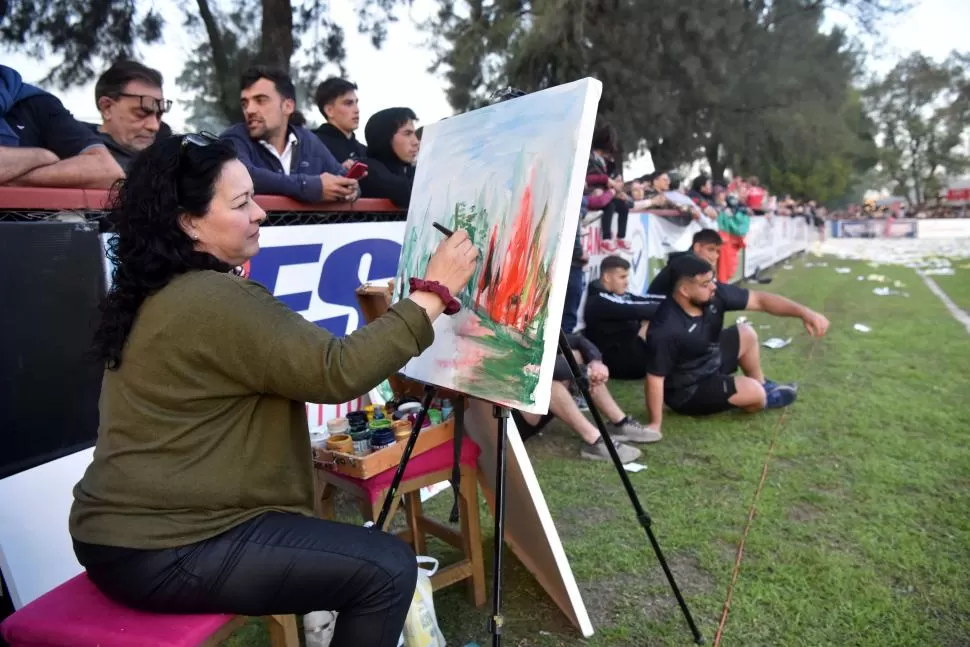
[[[532,413],[549,409],[602,84],[549,88],[424,129],[394,299],[464,229],[481,252],[457,315],[403,373]]]

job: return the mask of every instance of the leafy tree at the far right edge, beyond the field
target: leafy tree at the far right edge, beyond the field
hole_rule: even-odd
[[[879,162],[895,191],[911,203],[935,198],[946,175],[970,168],[970,57],[942,63],[922,54],[903,59],[866,91],[879,134]]]

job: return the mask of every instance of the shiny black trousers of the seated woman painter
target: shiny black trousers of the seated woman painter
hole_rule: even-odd
[[[154,613],[339,612],[332,647],[395,647],[417,563],[393,535],[269,512],[188,546],[133,550],[75,542],[108,597]]]

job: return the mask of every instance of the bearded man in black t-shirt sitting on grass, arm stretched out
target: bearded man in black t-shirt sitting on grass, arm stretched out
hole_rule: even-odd
[[[673,287],[657,310],[647,335],[647,409],[650,427],[660,431],[663,405],[685,415],[788,406],[795,388],[766,380],[758,336],[747,325],[724,328],[727,311],[753,310],[799,317],[813,337],[828,320],[805,306],[766,292],[714,281],[711,265],[693,254],[670,263]],[[743,376],[734,373],[741,368]]]

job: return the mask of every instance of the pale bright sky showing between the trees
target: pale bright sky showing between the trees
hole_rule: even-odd
[[[331,18],[343,25],[346,34],[347,76],[359,86],[361,132],[363,125],[378,110],[391,106],[408,106],[420,118],[420,123],[438,121],[453,114],[445,98],[443,78],[432,75],[428,67],[433,55],[425,44],[427,36],[417,23],[434,11],[436,0],[414,0],[410,10],[398,10],[399,22],[388,28],[388,39],[380,50],[374,49],[367,36],[357,33],[356,1],[334,0]],[[874,74],[888,71],[908,54],[921,51],[931,58],[942,60],[954,49],[968,49],[967,26],[970,25],[970,0],[914,0],[913,9],[905,15],[888,19],[876,34],[860,35],[874,55],[867,67]],[[185,53],[192,43],[179,28],[178,5],[175,0],[156,0],[155,6],[167,18],[163,45],[142,47],[140,60],[162,72],[165,95],[175,100],[166,121],[178,132],[182,129],[185,111],[179,105],[179,88],[175,84],[185,62]],[[845,24],[845,18],[830,12],[830,24]],[[858,35],[858,34],[857,34]],[[5,65],[17,69],[28,82],[37,83],[56,60],[38,61],[22,54],[3,52]],[[94,104],[94,82],[68,91],[48,88],[56,93],[76,117],[85,121],[99,121]],[[306,111],[312,121],[322,121],[316,109]],[[628,176],[653,170],[649,156],[631,160],[625,165]]]

